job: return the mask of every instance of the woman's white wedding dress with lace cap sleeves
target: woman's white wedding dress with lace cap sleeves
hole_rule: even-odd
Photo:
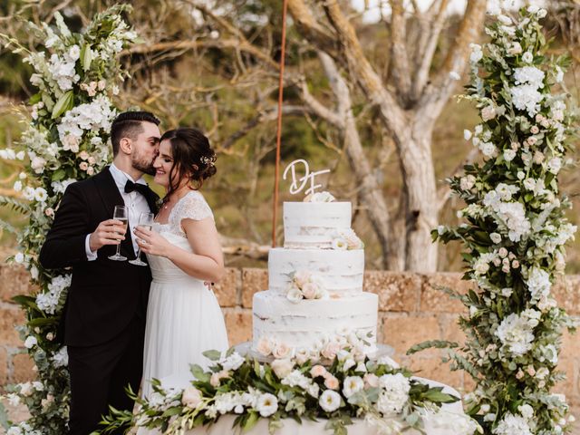
[[[179,199],[167,224],[153,229],[169,243],[192,252],[181,220],[213,218],[211,209],[198,191]],[[216,295],[203,280],[187,275],[168,258],[147,256],[153,281],[150,287],[145,329],[142,397],[152,392],[150,380],[164,387],[185,388],[193,376],[190,364],[204,368],[208,350],[226,351],[227,330]],[[141,433],[141,432],[140,432]]]

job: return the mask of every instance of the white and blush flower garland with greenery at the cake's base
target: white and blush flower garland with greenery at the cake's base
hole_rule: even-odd
[[[268,419],[270,433],[281,429],[284,419],[325,419],[325,428],[335,435],[348,433],[353,418],[365,419],[385,434],[420,430],[429,416],[453,424],[457,435],[472,434],[478,427],[465,415],[440,412],[442,403],[459,400],[441,387],[430,387],[387,362],[366,357],[354,362],[347,350],[337,353],[328,368],[292,357],[261,363],[233,350],[204,354],[213,364],[208,371],[192,366],[196,380],[191,386],[166,391],[154,381],[149,400],[131,394],[139,404],[136,414],[111,410],[101,433],[130,423],[179,434],[215,424],[226,414],[237,415],[234,425],[243,430]]]

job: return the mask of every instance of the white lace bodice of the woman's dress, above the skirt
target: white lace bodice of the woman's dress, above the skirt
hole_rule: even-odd
[[[183,219],[201,220],[212,218],[213,213],[205,198],[197,190],[188,192],[169,213],[167,224],[155,223],[153,230],[165,237],[170,244],[192,252],[189,240],[181,227]],[[147,256],[151,268],[153,281],[156,283],[172,283],[177,281],[199,281],[193,276],[187,275],[178,266],[175,266],[164,256]]]

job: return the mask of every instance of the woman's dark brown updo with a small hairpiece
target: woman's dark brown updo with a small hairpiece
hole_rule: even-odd
[[[204,179],[217,172],[216,152],[208,138],[197,129],[182,127],[163,133],[160,141],[169,140],[173,166],[169,171],[169,189],[165,198],[179,188],[179,181],[189,179],[192,189],[199,189]]]

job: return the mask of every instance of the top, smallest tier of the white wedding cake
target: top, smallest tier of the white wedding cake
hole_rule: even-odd
[[[351,228],[350,202],[285,202],[284,247],[331,248]]]

